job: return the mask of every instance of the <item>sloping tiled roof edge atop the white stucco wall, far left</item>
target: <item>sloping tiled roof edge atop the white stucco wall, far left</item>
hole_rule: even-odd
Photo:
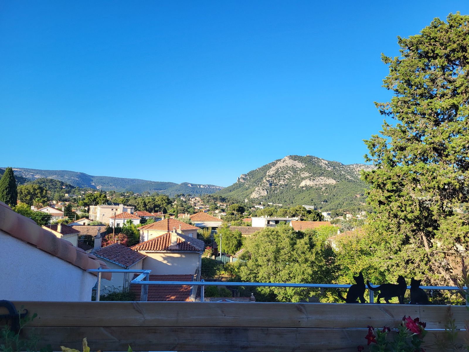
[[[42,229],[36,222],[15,213],[3,202],[0,202],[0,230],[83,270],[99,267],[109,269],[104,261]],[[103,273],[102,277],[111,280],[111,273]]]

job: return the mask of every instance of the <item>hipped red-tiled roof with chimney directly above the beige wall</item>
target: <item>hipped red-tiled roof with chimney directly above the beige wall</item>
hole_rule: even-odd
[[[190,236],[177,234],[177,248],[171,246],[171,232],[166,232],[158,237],[130,247],[134,251],[143,252],[202,252],[205,248],[204,241]]]

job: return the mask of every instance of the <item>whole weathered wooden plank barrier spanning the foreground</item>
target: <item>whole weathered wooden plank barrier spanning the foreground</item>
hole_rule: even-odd
[[[430,330],[427,352],[447,321],[447,306],[320,303],[199,302],[14,302],[38,317],[24,330],[51,344],[91,351],[356,351],[366,345],[367,325],[396,328],[404,315]],[[465,306],[451,307],[459,329]],[[459,334],[461,351],[463,334]]]

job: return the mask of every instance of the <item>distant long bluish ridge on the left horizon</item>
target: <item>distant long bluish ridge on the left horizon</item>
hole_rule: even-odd
[[[0,168],[0,175],[5,168]],[[82,188],[94,188],[103,191],[133,191],[135,193],[159,192],[174,196],[175,194],[210,194],[221,190],[223,187],[212,184],[190,184],[184,182],[158,182],[141,180],[138,178],[122,178],[111,176],[92,176],[83,172],[68,170],[40,170],[34,168],[13,168],[15,178],[19,184],[24,184],[38,178],[51,178],[67,184]]]

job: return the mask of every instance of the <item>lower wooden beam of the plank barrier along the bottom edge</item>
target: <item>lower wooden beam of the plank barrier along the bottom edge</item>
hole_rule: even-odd
[[[367,329],[309,328],[180,328],[180,327],[46,327],[27,328],[40,337],[40,345],[81,350],[87,337],[92,351],[246,351],[246,352],[310,352],[356,351],[366,345]],[[422,345],[427,352],[439,351],[435,333],[430,331]],[[458,340],[461,342],[461,337]]]

